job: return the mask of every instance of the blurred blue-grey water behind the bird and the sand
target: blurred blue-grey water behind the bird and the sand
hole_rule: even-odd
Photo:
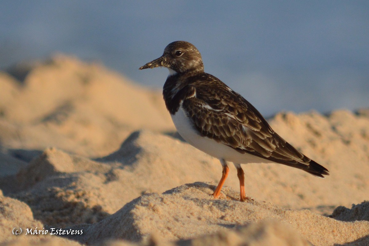
[[[205,71],[270,116],[369,106],[368,1],[2,1],[0,69],[62,52],[162,88],[139,71],[193,43]]]

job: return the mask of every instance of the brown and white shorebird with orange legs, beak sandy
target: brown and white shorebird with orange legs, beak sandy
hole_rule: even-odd
[[[328,169],[306,157],[280,137],[261,113],[217,77],[204,72],[201,54],[192,43],[169,43],[163,55],[139,70],[166,67],[163,99],[173,123],[189,144],[220,160],[222,176],[212,194],[218,198],[227,179],[228,162],[237,169],[240,201],[245,194],[241,164],[278,163],[319,178]]]

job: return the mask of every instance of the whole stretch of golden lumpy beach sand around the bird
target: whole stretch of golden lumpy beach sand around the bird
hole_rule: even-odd
[[[0,88],[0,245],[369,245],[369,109],[268,119],[330,176],[243,165],[242,203],[231,165],[211,196],[220,163],[179,137],[160,91],[62,54]]]

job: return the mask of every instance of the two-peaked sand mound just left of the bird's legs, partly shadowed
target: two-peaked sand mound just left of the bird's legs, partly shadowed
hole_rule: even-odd
[[[163,147],[168,151],[182,148],[182,154],[163,154]],[[173,165],[177,158],[183,165]],[[193,158],[197,161],[193,162]],[[142,193],[163,192],[201,180],[208,176],[208,168],[213,167],[216,180],[219,166],[211,161],[180,140],[138,131],[127,138],[120,150],[99,161],[48,149],[21,169],[12,185],[4,184],[3,189],[17,192],[12,196],[29,204],[35,218],[46,224],[92,223]],[[186,162],[192,164],[184,165]],[[193,175],[194,169],[197,171]]]

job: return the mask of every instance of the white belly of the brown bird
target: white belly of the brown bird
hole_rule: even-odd
[[[218,143],[211,138],[201,137],[193,128],[192,122],[189,117],[185,115],[182,107],[179,108],[175,115],[171,116],[178,133],[184,138],[184,140],[208,155],[239,164],[270,163],[270,161],[266,159],[259,158],[251,154],[241,154],[233,148]]]

